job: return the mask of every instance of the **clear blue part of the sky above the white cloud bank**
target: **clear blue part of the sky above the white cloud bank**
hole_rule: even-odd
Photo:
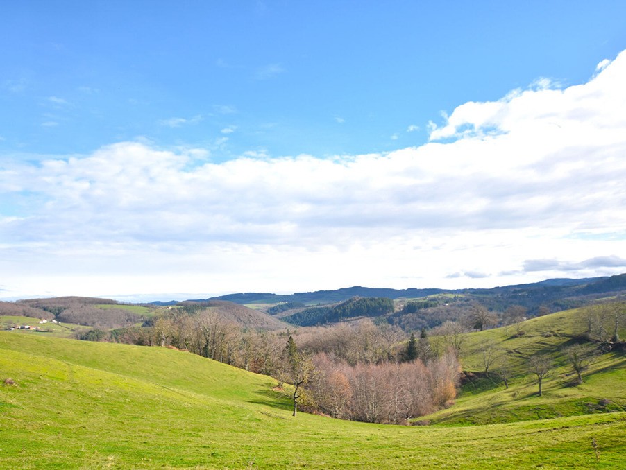
[[[13,2],[0,148],[381,152],[465,101],[580,83],[626,42],[623,2],[423,3]]]

